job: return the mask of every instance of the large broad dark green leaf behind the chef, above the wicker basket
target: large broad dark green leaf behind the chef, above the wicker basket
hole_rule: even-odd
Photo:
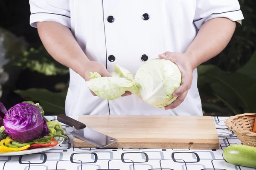
[[[245,74],[222,71],[215,65],[198,67],[198,88],[211,87],[212,96],[221,100],[233,113],[256,112],[256,79]],[[209,94],[208,94],[209,95]]]

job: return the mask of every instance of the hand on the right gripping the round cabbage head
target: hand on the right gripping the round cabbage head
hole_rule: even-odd
[[[165,110],[173,109],[176,108],[178,105],[180,105],[192,83],[192,78],[193,78],[193,67],[192,67],[192,57],[189,56],[188,54],[183,54],[183,53],[172,53],[172,52],[165,52],[163,54],[159,54],[158,56],[160,59],[169,59],[173,63],[177,65],[177,67],[180,70],[181,73],[181,85],[179,88],[177,88],[176,91],[172,94],[172,96],[177,97],[177,99],[172,102],[172,104],[165,106]]]

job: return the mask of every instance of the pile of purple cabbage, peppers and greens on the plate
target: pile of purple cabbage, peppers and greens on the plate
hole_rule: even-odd
[[[67,138],[58,122],[46,122],[39,103],[22,102],[8,111],[0,102],[0,153],[53,147],[55,137]]]

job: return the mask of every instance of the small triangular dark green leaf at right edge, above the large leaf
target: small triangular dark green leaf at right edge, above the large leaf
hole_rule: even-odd
[[[250,60],[239,70],[237,70],[237,72],[246,74],[247,76],[256,79],[256,51],[253,53]]]

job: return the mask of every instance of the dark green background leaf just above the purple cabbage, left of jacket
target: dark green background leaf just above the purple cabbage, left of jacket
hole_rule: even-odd
[[[30,88],[24,91],[16,90],[15,93],[19,94],[26,101],[38,101],[43,107],[44,112],[65,113],[66,92],[53,93],[42,88]]]

